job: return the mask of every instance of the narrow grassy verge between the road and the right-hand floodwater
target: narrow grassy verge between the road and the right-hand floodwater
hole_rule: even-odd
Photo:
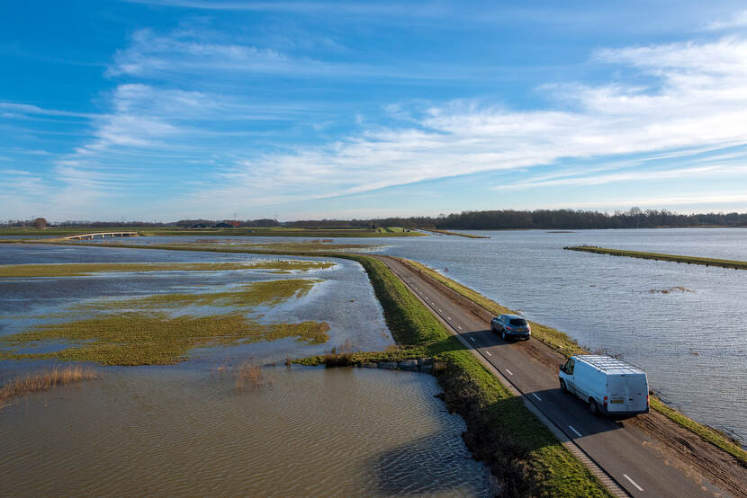
[[[419,271],[428,274],[450,289],[454,289],[465,298],[468,298],[481,307],[484,307],[485,309],[491,311],[491,313],[494,313],[496,315],[501,315],[504,313],[516,313],[508,307],[502,307],[495,301],[482,296],[482,294],[480,294],[479,292],[464,287],[464,285],[457,283],[454,280],[446,278],[442,274],[431,268],[428,268],[428,266],[425,266],[424,264],[413,262],[410,260],[404,260],[401,258],[398,259],[400,259],[402,262],[410,264],[410,266],[417,268]],[[574,354],[584,354],[589,352],[581,348],[578,342],[573,341],[568,335],[563,332],[555,330],[554,328],[548,327],[546,325],[537,324],[535,322],[529,322],[529,324],[532,325],[532,337],[534,337],[538,341],[545,342],[545,344],[566,357],[572,356]],[[678,412],[671,406],[664,404],[662,400],[658,399],[656,396],[651,396],[651,407],[657,412],[665,415],[672,422],[676,422],[685,429],[698,434],[698,436],[700,436],[704,440],[707,440],[716,447],[723,449],[734,458],[737,458],[743,463],[747,464],[747,451],[745,451],[738,444],[735,444],[734,441],[726,437],[724,433],[716,431],[716,429],[708,427],[707,425],[703,425],[702,423],[695,422],[684,414],[680,414],[680,412]]]

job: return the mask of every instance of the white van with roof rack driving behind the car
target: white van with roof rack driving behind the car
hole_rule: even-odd
[[[592,414],[648,414],[646,372],[606,355],[572,356],[558,373],[563,392],[589,403]]]

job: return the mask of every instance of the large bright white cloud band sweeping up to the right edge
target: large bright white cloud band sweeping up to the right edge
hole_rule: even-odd
[[[249,204],[313,199],[466,173],[551,165],[561,158],[688,155],[747,143],[747,41],[678,43],[599,50],[609,64],[635,67],[655,85],[554,87],[574,111],[510,111],[479,102],[433,107],[404,129],[369,129],[324,147],[239,162],[230,187],[193,200]],[[399,108],[396,109],[400,111]],[[648,173],[596,172],[524,186],[593,185],[636,178],[732,174],[744,168],[702,165]],[[715,163],[718,159],[715,158]],[[272,192],[272,195],[257,195]]]

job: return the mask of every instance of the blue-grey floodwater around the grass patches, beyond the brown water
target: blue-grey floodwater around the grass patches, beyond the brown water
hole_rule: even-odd
[[[323,258],[257,256],[251,254],[143,251],[126,248],[19,245],[0,247],[0,264],[63,262],[251,262]],[[360,351],[380,351],[393,343],[368,276],[356,262],[335,260],[327,270],[286,274],[267,270],[154,271],[148,273],[98,273],[82,277],[7,279],[0,281],[0,335],[22,332],[41,322],[59,320],[69,307],[98,298],[131,298],[158,293],[218,292],[246,282],[282,279],[320,280],[302,298],[275,307],[257,307],[248,317],[259,323],[327,322],[330,340],[305,345],[293,337],[255,342],[232,348],[193,352],[194,362],[212,363],[253,355],[264,362],[284,361],[332,348],[347,346]],[[219,310],[225,313],[226,310]],[[53,320],[45,316],[55,316]],[[0,378],[3,364],[0,362]]]

